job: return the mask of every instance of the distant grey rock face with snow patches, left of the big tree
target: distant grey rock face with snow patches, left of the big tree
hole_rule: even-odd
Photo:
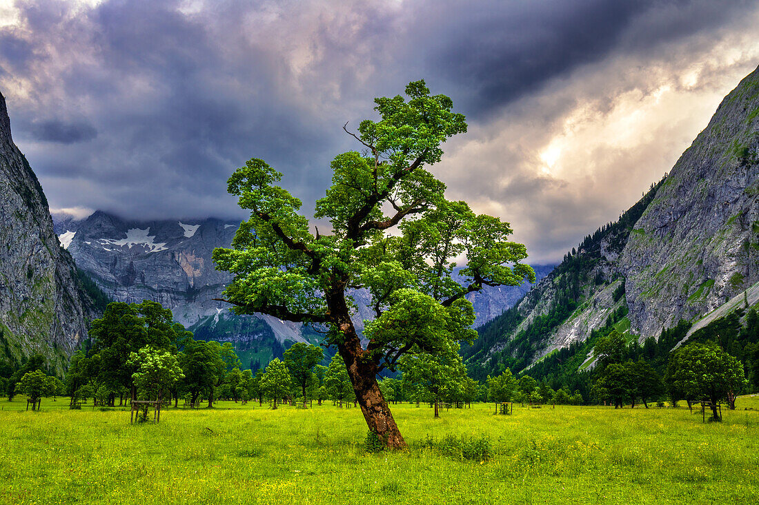
[[[229,246],[237,224],[125,221],[98,211],[82,221],[61,220],[58,229],[79,268],[113,300],[153,300],[185,326],[227,308],[213,298],[231,278],[213,268],[211,253]]]

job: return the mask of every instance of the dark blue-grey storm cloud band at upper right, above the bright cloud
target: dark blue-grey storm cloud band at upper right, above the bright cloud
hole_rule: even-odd
[[[448,30],[427,57],[427,67],[465,89],[461,102],[470,117],[493,114],[502,105],[584,64],[610,54],[650,51],[672,39],[724,24],[746,2],[461,2],[430,5],[431,33]],[[452,20],[455,20],[452,23]]]

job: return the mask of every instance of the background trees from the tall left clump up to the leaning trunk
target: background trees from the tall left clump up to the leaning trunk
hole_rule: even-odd
[[[230,343],[194,340],[159,303],[110,303],[72,356],[63,391],[72,403],[93,397],[110,406],[137,398],[175,405],[184,398],[192,406],[204,399],[209,407],[217,399],[354,400],[345,363],[336,356],[324,366],[323,358],[321,347],[294,343],[253,375]]]

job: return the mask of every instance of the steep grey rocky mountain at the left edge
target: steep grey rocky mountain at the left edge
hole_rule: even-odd
[[[2,95],[0,194],[0,359],[42,353],[62,373],[98,312],[86,278],[59,246],[36,175],[13,143]]]

